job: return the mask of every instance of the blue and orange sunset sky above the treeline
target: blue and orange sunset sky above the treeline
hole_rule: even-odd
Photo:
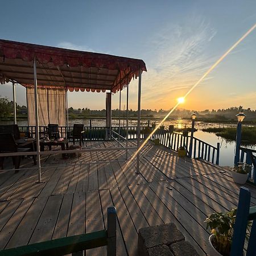
[[[146,63],[142,109],[171,109],[256,23],[255,0],[1,1],[0,38],[134,57]],[[256,30],[186,98],[181,108],[256,109]],[[137,109],[138,80],[129,87]],[[26,105],[22,86],[16,100]],[[12,99],[11,86],[0,96]],[[104,109],[104,93],[69,92],[73,108]],[[112,108],[118,108],[114,94]],[[126,89],[122,91],[122,109]],[[125,107],[126,108],[126,107]]]

